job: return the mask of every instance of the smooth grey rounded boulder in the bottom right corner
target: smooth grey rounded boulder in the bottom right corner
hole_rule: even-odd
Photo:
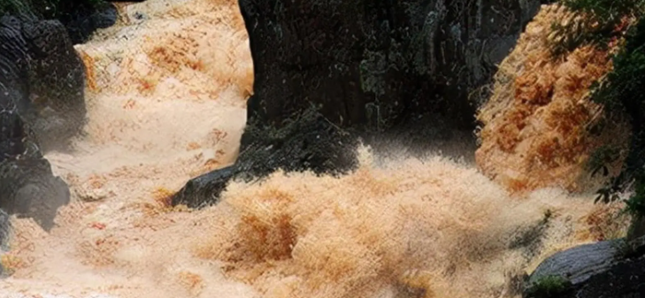
[[[527,280],[523,296],[645,296],[645,238],[601,241],[550,256]]]

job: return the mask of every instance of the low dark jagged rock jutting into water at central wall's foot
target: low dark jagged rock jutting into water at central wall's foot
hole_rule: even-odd
[[[219,202],[219,194],[230,180],[259,179],[277,169],[340,174],[357,164],[354,155],[357,141],[352,134],[312,109],[279,129],[250,124],[245,134],[254,141],[240,152],[234,165],[188,181],[173,195],[173,205],[199,208]]]

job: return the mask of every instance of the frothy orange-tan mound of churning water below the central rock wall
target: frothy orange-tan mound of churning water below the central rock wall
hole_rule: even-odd
[[[583,219],[601,208],[557,189],[512,198],[444,157],[361,157],[340,179],[276,172],[230,186],[215,207],[230,210],[226,225],[197,256],[266,297],[499,296],[534,259],[590,241]]]

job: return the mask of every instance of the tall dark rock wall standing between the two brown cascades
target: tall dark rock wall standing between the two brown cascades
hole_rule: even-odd
[[[412,126],[418,132],[432,126],[472,130],[476,109],[472,103],[477,101],[470,101],[469,95],[491,79],[495,64],[511,50],[541,2],[240,0],[239,4],[255,73],[242,135],[241,151],[248,152],[284,150],[263,144],[265,138],[257,132],[280,130],[293,122],[293,115],[312,106],[339,135],[398,134]],[[424,125],[416,123],[419,119]],[[417,141],[437,138],[425,134]],[[313,144],[329,146],[322,141]],[[289,148],[292,151],[278,154],[285,157],[283,161],[262,158],[272,154],[247,153],[238,164],[253,164],[245,167],[247,174],[255,175],[256,167],[270,162],[288,167],[295,162],[290,158],[293,152],[306,156],[310,148]],[[338,154],[326,149],[331,156]],[[336,149],[353,151],[347,146]],[[296,168],[317,166],[301,165]],[[351,163],[327,170],[339,167],[347,170]],[[258,171],[256,176],[265,172]],[[206,175],[199,182],[188,182],[188,187],[207,189],[206,177],[224,176]],[[199,192],[184,188],[173,202],[196,206],[219,195],[195,195]]]

